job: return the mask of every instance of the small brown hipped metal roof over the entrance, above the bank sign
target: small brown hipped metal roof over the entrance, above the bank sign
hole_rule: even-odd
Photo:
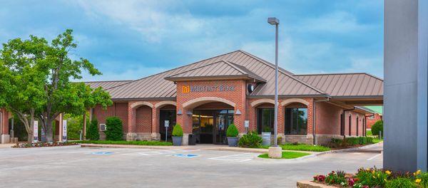
[[[199,68],[193,68],[183,73],[178,73],[166,77],[166,80],[178,81],[178,80],[200,80],[200,79],[222,79],[222,78],[246,78],[255,79],[258,82],[266,82],[264,78],[261,78],[257,74],[249,71],[243,66],[238,66],[235,63],[228,61],[217,61],[210,63]]]

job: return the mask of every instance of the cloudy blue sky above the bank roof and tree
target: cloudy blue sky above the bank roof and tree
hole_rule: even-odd
[[[383,78],[383,1],[1,1],[0,43],[74,30],[73,56],[127,80],[243,49],[282,68]]]

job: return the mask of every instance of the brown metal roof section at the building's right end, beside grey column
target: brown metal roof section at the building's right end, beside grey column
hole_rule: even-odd
[[[295,75],[332,97],[383,96],[383,80],[367,73]]]

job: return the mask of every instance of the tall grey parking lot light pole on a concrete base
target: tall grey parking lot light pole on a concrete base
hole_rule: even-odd
[[[273,17],[268,18],[267,23],[275,25],[275,120],[273,124],[273,147],[269,147],[269,157],[281,158],[282,149],[277,145],[277,131],[278,131],[278,25],[280,20]]]

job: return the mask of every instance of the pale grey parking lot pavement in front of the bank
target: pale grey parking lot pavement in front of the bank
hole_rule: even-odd
[[[0,187],[295,187],[314,174],[382,167],[377,149],[269,160],[211,150],[2,148]]]

